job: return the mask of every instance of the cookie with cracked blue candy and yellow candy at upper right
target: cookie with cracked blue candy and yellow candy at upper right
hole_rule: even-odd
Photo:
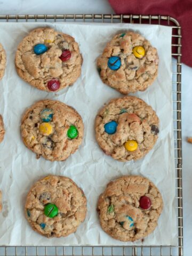
[[[117,91],[145,91],[157,77],[157,49],[140,34],[117,34],[98,58],[97,66],[103,83]]]

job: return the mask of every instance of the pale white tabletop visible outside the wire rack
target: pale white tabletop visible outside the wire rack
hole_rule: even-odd
[[[158,11],[158,10],[157,10]],[[65,13],[114,13],[107,0],[1,0],[0,14],[65,14]],[[183,240],[184,254],[190,256],[192,251],[192,145],[186,142],[191,135],[192,109],[192,69],[182,65],[182,136],[183,136]]]

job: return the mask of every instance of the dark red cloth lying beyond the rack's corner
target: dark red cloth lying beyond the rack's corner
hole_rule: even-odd
[[[192,0],[108,0],[117,14],[167,15],[179,21],[182,62],[192,67]]]

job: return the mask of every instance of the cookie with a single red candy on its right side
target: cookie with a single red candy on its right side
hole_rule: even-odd
[[[162,209],[158,189],[140,176],[123,176],[109,182],[98,201],[102,229],[124,242],[136,241],[153,232]]]

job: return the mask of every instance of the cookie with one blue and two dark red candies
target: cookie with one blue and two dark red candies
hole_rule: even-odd
[[[75,39],[52,28],[36,28],[19,44],[18,75],[39,90],[59,91],[81,75],[82,55]]]

